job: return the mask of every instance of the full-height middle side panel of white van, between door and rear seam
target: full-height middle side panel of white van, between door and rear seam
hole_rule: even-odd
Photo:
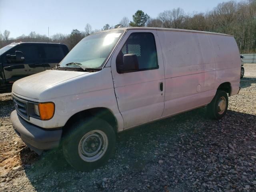
[[[215,60],[209,34],[179,31],[158,34],[166,77],[163,116],[210,102],[215,94]]]

